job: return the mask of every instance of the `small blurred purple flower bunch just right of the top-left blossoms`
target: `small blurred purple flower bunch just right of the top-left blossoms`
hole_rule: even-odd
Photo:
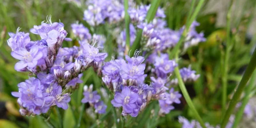
[[[71,24],[71,28],[75,36],[79,37],[80,40],[92,39],[92,35],[89,32],[89,29],[84,27],[83,24]]]

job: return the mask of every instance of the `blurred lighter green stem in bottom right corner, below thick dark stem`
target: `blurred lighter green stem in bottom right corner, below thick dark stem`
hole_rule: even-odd
[[[246,104],[248,103],[248,101],[250,100],[251,98],[251,91],[253,89],[253,87],[255,86],[255,80],[256,80],[256,71],[253,72],[252,74],[252,78],[250,80],[250,84],[248,85],[246,91],[245,91],[245,96],[244,96],[244,99],[242,101],[242,105],[241,107],[239,108],[238,112],[236,113],[236,118],[235,118],[235,121],[233,123],[233,126],[232,128],[236,128],[237,125],[239,124],[243,114],[244,114],[244,108],[246,106]]]

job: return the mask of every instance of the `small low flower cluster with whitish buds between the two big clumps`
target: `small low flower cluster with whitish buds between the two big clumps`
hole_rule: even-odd
[[[100,100],[100,95],[97,93],[97,91],[92,91],[92,88],[92,84],[89,86],[89,88],[87,85],[84,86],[84,98],[81,102],[89,103],[95,108],[96,113],[103,114],[106,112],[107,105]]]

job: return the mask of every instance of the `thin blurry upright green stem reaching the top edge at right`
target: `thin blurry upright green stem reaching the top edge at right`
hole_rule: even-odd
[[[224,59],[224,69],[222,73],[222,114],[224,115],[225,110],[226,110],[226,102],[227,102],[227,85],[228,85],[228,59],[229,59],[229,53],[231,50],[230,46],[230,15],[231,15],[231,10],[232,10],[232,4],[234,0],[230,1],[228,13],[227,13],[227,42],[226,42],[226,51],[225,51],[225,59]]]

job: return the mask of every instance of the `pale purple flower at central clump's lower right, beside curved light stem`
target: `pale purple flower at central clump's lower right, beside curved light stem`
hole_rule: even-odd
[[[167,104],[172,104],[172,103],[180,104],[181,94],[178,91],[174,92],[173,88],[171,88],[169,93],[165,94],[165,97],[166,97],[165,102]]]

